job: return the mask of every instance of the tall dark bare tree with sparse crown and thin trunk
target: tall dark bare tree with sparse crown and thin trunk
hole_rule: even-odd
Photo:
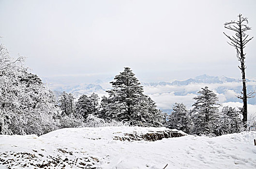
[[[237,21],[230,21],[226,22],[224,24],[225,28],[235,31],[235,36],[228,36],[225,32],[223,32],[226,37],[231,40],[230,42],[227,42],[231,46],[235,47],[237,50],[237,58],[241,63],[241,66],[238,66],[242,73],[242,96],[237,96],[239,99],[242,99],[243,101],[243,108],[242,108],[242,115],[243,115],[243,123],[244,127],[246,127],[247,123],[247,99],[252,98],[254,92],[251,92],[247,94],[246,92],[246,79],[245,79],[245,53],[243,49],[245,48],[245,44],[248,43],[253,39],[248,38],[248,35],[245,33],[247,30],[250,30],[251,28],[248,26],[248,18],[243,17],[242,14],[238,15]]]

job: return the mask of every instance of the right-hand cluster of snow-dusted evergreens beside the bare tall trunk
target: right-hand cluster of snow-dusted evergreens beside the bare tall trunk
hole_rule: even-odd
[[[188,134],[220,136],[244,131],[241,109],[220,104],[216,94],[207,86],[198,91],[193,108],[188,110],[183,103],[175,103],[169,115],[167,127],[177,128]]]

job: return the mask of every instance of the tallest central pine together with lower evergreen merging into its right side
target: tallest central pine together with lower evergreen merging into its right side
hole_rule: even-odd
[[[131,124],[139,126],[159,124],[160,113],[155,112],[154,105],[151,105],[149,97],[143,94],[143,87],[130,68],[124,68],[114,80],[110,82],[113,89],[106,91],[109,98],[104,100],[107,105],[101,112],[102,116],[118,121],[131,121]],[[154,116],[151,116],[152,114]]]

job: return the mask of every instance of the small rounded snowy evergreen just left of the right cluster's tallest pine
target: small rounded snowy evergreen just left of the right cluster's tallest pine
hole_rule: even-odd
[[[169,115],[168,127],[191,134],[193,123],[186,106],[183,103],[175,103],[172,109],[173,112]]]

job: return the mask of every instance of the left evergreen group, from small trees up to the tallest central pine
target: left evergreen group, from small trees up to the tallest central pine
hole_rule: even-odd
[[[164,114],[156,103],[143,92],[135,74],[128,67],[115,76],[110,82],[112,89],[106,91],[108,97],[103,96],[101,101],[97,94],[82,95],[74,102],[72,94],[63,92],[59,104],[62,115],[81,117],[83,121],[92,114],[99,118],[129,122],[130,125],[143,127],[161,127],[164,123]]]

